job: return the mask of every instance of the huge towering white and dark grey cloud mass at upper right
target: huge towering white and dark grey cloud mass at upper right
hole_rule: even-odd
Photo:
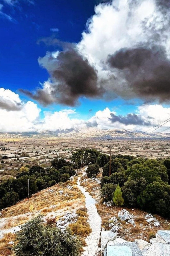
[[[102,1],[79,43],[55,35],[40,42],[59,49],[38,59],[49,80],[34,93],[21,91],[43,105],[75,106],[81,97],[170,100],[169,0]]]

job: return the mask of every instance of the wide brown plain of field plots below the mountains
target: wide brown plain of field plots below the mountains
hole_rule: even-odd
[[[1,139],[0,140],[0,171],[15,171],[21,166],[39,164],[42,167],[51,165],[55,157],[69,158],[77,149],[93,148],[101,153],[132,155],[146,158],[170,157],[169,140],[148,139],[70,139],[70,138],[45,138],[45,139]],[[4,172],[3,172],[4,174]],[[7,173],[6,173],[7,174]]]

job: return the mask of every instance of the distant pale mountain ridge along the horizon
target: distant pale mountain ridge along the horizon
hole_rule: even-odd
[[[102,138],[102,139],[170,139],[170,133],[143,133],[141,131],[127,131],[118,129],[102,130],[88,128],[81,130],[58,129],[56,131],[44,130],[28,133],[0,133],[0,138]]]

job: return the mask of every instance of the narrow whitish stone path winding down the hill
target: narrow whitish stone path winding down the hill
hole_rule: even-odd
[[[92,228],[91,234],[86,238],[87,246],[84,247],[82,256],[93,256],[98,253],[98,244],[100,241],[101,233],[101,218],[98,215],[97,208],[95,206],[95,200],[88,192],[80,185],[80,178],[78,177],[77,186],[85,196],[86,208],[89,214],[89,224]]]

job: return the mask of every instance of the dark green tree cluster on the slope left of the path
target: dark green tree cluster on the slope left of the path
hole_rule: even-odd
[[[31,168],[21,167],[16,178],[5,179],[0,183],[0,209],[14,205],[21,199],[27,197],[27,184],[29,179],[29,195],[44,188],[65,182],[76,172],[65,159],[54,159],[51,168],[42,168],[33,165]],[[58,169],[53,166],[57,166]]]

